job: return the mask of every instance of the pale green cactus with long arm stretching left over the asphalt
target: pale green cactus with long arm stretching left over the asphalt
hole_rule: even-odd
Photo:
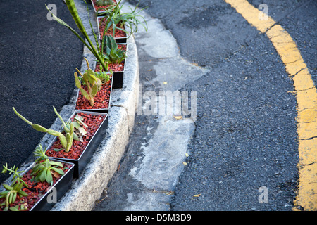
[[[66,123],[64,122],[63,118],[61,117],[61,115],[59,115],[56,111],[56,108],[53,106],[54,108],[54,112],[56,113],[56,115],[58,116],[58,118],[61,120],[61,122],[63,123],[64,127],[66,127]],[[70,129],[65,129],[66,130],[66,134],[62,134],[59,131],[55,131],[54,129],[46,129],[45,127],[42,127],[39,124],[33,124],[32,122],[28,121],[27,119],[25,119],[25,117],[23,117],[22,115],[20,115],[15,108],[13,107],[14,113],[16,115],[18,115],[18,117],[20,117],[24,122],[26,122],[27,124],[30,124],[31,127],[33,127],[33,129],[40,131],[40,132],[44,132],[44,133],[48,133],[54,136],[58,136],[58,139],[61,141],[61,145],[63,146],[63,148],[65,149],[66,153],[68,153],[68,151],[70,150],[71,146],[73,145],[73,139],[74,139],[74,124],[70,124]]]

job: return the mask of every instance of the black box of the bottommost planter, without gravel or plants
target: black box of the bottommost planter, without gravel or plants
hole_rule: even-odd
[[[53,161],[63,162],[63,163],[67,163],[67,164],[71,165],[70,169],[68,169],[68,171],[63,176],[61,176],[61,178],[58,179],[58,181],[53,186],[51,186],[51,188],[56,188],[56,203],[57,203],[58,200],[60,200],[63,197],[63,195],[69,190],[69,188],[72,185],[73,172],[75,169],[75,165],[71,162],[66,162],[63,160],[54,159]],[[32,167],[34,167],[34,165],[35,165],[35,163],[30,165],[30,167],[28,167],[23,174],[25,174],[30,169],[32,169]],[[46,192],[42,196],[42,198],[39,199],[39,201],[37,201],[37,203],[35,203],[35,205],[33,205],[33,207],[30,209],[30,211],[49,211],[49,210],[51,210],[51,208],[54,207],[55,203],[54,202],[49,203],[47,198],[49,197],[49,195],[52,192],[53,192],[52,189],[50,191]]]

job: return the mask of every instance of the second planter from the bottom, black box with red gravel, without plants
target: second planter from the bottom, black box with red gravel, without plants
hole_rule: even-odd
[[[61,143],[57,136],[48,148],[46,148],[46,155],[51,159],[63,160],[66,162],[72,162],[75,165],[74,168],[74,178],[78,178],[82,171],[85,169],[89,160],[94,155],[94,151],[98,148],[101,141],[106,135],[106,129],[108,127],[108,114],[107,113],[97,113],[89,112],[85,110],[75,110],[73,115],[70,117],[68,122],[75,117],[75,115],[80,114],[84,119],[87,119],[86,124],[88,125],[87,133],[88,137],[84,137],[83,141],[73,141],[73,146],[70,148],[69,152],[66,153],[64,149],[56,151],[54,149],[60,149]]]

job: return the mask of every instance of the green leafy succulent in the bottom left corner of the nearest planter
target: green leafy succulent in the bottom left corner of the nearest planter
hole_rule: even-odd
[[[22,191],[23,186],[27,187],[27,184],[25,184],[25,181],[23,181],[22,175],[20,173],[23,173],[23,171],[18,172],[18,167],[15,168],[15,166],[8,168],[8,164],[3,166],[4,169],[2,170],[2,173],[9,172],[9,174],[13,174],[12,178],[12,184],[3,184],[4,188],[6,188],[6,191],[2,191],[0,193],[0,198],[6,198],[4,203],[1,205],[6,205],[4,207],[4,211],[12,210],[12,211],[17,211],[19,210],[18,207],[9,207],[10,204],[14,203],[17,195],[20,197],[27,196],[27,193],[25,191]],[[25,206],[21,206],[20,210],[25,210]]]

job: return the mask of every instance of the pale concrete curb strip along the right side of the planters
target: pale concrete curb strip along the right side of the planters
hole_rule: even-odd
[[[139,95],[139,64],[134,38],[130,37],[127,44],[129,54],[125,62],[123,89],[113,89],[105,139],[80,178],[73,181],[72,188],[52,210],[92,210],[118,168],[134,126]]]

